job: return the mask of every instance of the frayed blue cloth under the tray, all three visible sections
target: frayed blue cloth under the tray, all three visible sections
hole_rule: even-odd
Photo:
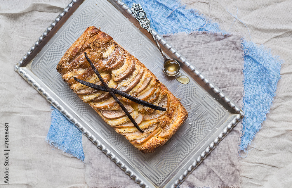
[[[176,0],[125,0],[124,2],[130,7],[133,3],[141,4],[147,17],[151,20],[152,27],[160,35],[177,32],[190,33],[194,30],[226,33],[220,30],[217,23],[206,20],[198,11],[185,9]],[[177,8],[178,6],[180,7]],[[173,11],[175,8],[177,9]],[[169,15],[170,13],[171,15]],[[240,145],[242,150],[248,146],[256,132],[260,130],[266,113],[270,111],[281,68],[279,57],[273,57],[269,49],[265,49],[264,46],[258,47],[256,44],[244,40],[243,47],[245,51],[243,110],[246,119],[243,120],[244,134]],[[66,121],[67,119],[57,110],[52,112],[52,117],[47,142],[63,151],[72,153],[81,160],[84,159],[82,133],[73,124]]]

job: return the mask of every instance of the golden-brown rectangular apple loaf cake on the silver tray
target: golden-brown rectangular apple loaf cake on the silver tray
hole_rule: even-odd
[[[101,85],[84,52],[109,87],[166,108],[166,111],[157,111],[117,95],[144,131],[141,133],[109,93],[92,89],[73,79],[77,77]],[[180,101],[145,65],[94,26],[88,27],[67,50],[57,65],[57,71],[82,101],[143,153],[151,153],[165,144],[187,118],[187,111]]]

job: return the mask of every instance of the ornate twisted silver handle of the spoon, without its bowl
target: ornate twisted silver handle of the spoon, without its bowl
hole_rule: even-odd
[[[150,28],[150,20],[147,18],[145,11],[142,9],[142,6],[140,4],[133,4],[131,11],[134,13],[135,18],[138,20],[138,22],[140,23],[141,27],[143,27],[145,30],[147,30],[148,32],[150,32],[156,46],[158,47],[160,53],[162,54],[164,59],[167,59],[164,52],[162,51],[158,41],[156,40],[156,38],[154,37],[152,30]]]

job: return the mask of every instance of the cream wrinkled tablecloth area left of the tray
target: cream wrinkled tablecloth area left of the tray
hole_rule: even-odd
[[[0,187],[86,186],[84,163],[44,142],[51,124],[49,102],[14,71],[68,3],[0,1]],[[3,151],[4,123],[9,123],[10,151]],[[9,155],[8,166],[4,166],[4,152]],[[4,183],[4,168],[9,171],[9,184]]]

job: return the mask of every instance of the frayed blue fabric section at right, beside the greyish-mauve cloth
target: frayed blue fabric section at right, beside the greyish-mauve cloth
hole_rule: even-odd
[[[276,95],[282,60],[272,56],[271,49],[253,42],[243,42],[244,54],[244,107],[243,136],[240,149],[246,151],[248,144],[266,120]]]

